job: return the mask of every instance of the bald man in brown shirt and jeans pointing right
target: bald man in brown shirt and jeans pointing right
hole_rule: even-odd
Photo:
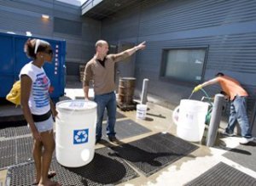
[[[85,65],[84,69],[84,97],[89,99],[89,82],[94,82],[94,101],[97,104],[96,143],[102,138],[102,120],[104,110],[108,111],[107,135],[111,142],[115,142],[114,125],[116,121],[116,96],[114,93],[114,64],[121,61],[137,50],[145,48],[145,42],[134,48],[130,48],[119,54],[108,54],[108,42],[99,40],[96,42],[96,54]]]

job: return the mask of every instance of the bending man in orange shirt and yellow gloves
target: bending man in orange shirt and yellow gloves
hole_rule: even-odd
[[[224,76],[219,72],[215,78],[196,86],[193,92],[199,91],[202,87],[219,83],[224,93],[230,98],[230,118],[228,127],[224,131],[224,135],[234,136],[234,128],[236,127],[236,120],[241,127],[241,141],[240,144],[247,144],[253,141],[250,130],[249,120],[247,117],[247,96],[248,93],[241,87],[241,84],[230,76]]]

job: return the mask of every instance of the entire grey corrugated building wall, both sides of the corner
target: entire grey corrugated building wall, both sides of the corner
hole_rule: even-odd
[[[41,14],[49,14],[49,21],[41,20]],[[77,79],[79,64],[95,53],[99,38],[115,46],[147,41],[146,50],[135,56],[135,93],[140,96],[143,78],[148,78],[148,99],[171,108],[189,98],[195,85],[160,80],[162,49],[207,46],[202,81],[218,71],[236,77],[250,94],[250,115],[256,109],[256,1],[144,0],[98,21],[55,0],[0,0],[0,22],[3,32],[65,39],[67,75]],[[213,96],[219,87],[206,91]],[[196,93],[193,99],[203,95]]]

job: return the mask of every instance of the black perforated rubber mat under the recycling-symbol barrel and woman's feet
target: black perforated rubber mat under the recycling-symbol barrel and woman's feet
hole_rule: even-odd
[[[86,166],[67,168],[53,159],[51,169],[57,173],[52,180],[61,185],[112,185],[138,177],[131,166],[113,156],[113,151],[107,147],[96,149],[94,159]],[[34,174],[32,162],[9,167],[9,185],[31,185]]]

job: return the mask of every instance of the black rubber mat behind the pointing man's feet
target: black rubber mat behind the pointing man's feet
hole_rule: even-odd
[[[146,132],[150,132],[150,130],[146,127],[141,126],[135,121],[132,120],[123,120],[116,121],[115,123],[115,132],[116,137],[119,139],[130,138],[133,136],[137,136]],[[102,138],[106,137],[106,124],[102,126]]]

